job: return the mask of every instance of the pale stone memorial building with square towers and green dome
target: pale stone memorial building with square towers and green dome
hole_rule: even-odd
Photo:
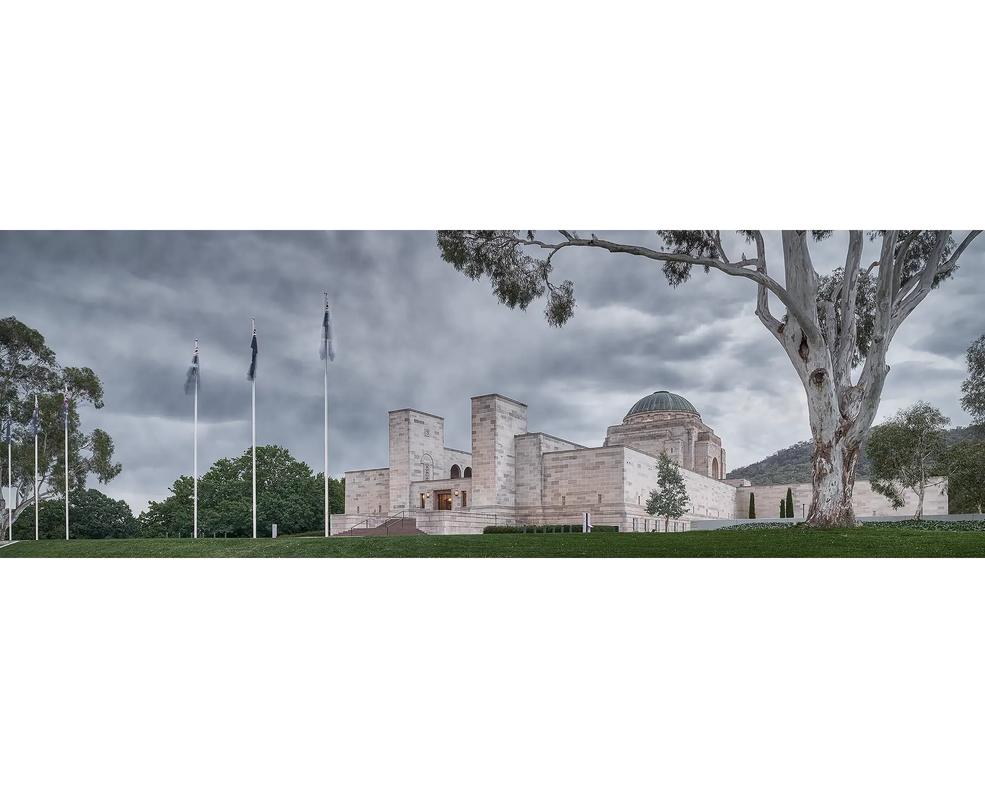
[[[580,524],[586,511],[596,525],[651,531],[658,521],[644,507],[657,487],[663,450],[681,466],[690,497],[689,511],[672,523],[675,530],[687,530],[692,520],[745,516],[750,493],[757,509],[765,506],[760,517],[773,514],[771,498],[779,500],[778,490],[726,480],[721,439],[688,400],[668,391],[633,405],[599,447],[528,427],[523,403],[500,394],[473,397],[472,445],[465,451],[444,445],[440,416],[391,411],[389,464],[346,473],[346,513],[332,516],[332,532],[399,524],[410,533],[481,533],[487,525]],[[793,487],[798,503],[801,487],[810,500],[810,485]],[[856,484],[859,516],[900,513],[867,488]],[[925,503],[928,513],[941,505],[946,513],[947,495],[928,496]]]

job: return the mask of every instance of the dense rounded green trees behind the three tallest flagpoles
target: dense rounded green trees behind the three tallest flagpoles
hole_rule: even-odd
[[[200,536],[253,535],[252,453],[217,460],[198,483]],[[296,460],[283,446],[256,447],[257,536],[320,531],[324,528],[325,475]],[[329,511],[345,510],[345,480],[329,478]],[[183,537],[193,530],[193,480],[179,477],[163,501],[150,501],[138,518],[138,536]]]

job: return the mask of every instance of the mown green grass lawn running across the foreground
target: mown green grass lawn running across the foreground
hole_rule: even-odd
[[[18,542],[9,558],[985,558],[985,533],[858,528],[683,534]]]

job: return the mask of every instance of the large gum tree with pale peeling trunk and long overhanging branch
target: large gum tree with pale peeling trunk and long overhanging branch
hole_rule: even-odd
[[[574,314],[574,285],[552,279],[565,249],[587,246],[612,254],[645,257],[660,264],[674,288],[695,268],[712,269],[755,285],[756,316],[787,354],[807,396],[811,431],[813,494],[807,523],[855,525],[852,489],[862,442],[879,409],[889,367],[886,351],[903,321],[943,282],[980,230],[849,230],[844,265],[819,276],[812,243],[830,243],[833,230],[782,230],[782,252],[767,260],[760,230],[738,230],[752,247],[731,259],[723,230],[656,230],[652,247],[618,243],[575,230],[550,236],[537,230],[438,230],[442,258],[472,279],[488,277],[493,293],[510,308],[526,309],[547,296],[545,316],[562,326]],[[878,259],[863,261],[866,236]],[[558,253],[561,257],[556,257]],[[780,280],[771,275],[782,264]],[[774,315],[770,298],[782,314]]]

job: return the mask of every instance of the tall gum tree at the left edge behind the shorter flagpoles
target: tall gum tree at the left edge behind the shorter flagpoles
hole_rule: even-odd
[[[63,386],[68,385],[69,396],[69,503],[71,493],[86,489],[86,482],[93,474],[100,484],[115,478],[121,469],[114,463],[113,440],[102,429],[91,432],[82,430],[80,409],[92,406],[102,408],[102,384],[96,372],[88,366],[60,366],[55,353],[44,342],[38,331],[22,323],[16,317],[0,319],[0,411],[7,416],[8,403],[14,412],[12,443],[12,471],[17,491],[14,522],[32,508],[34,438],[29,423],[34,410],[34,394],[37,394],[37,493],[44,501],[65,492],[65,431],[62,426],[61,408]],[[7,484],[6,446],[0,452],[3,484]],[[64,506],[64,498],[62,497]],[[4,501],[3,527],[7,527],[7,509]],[[62,509],[64,525],[64,508]],[[33,522],[31,531],[33,534]],[[64,535],[64,531],[63,531]]]

